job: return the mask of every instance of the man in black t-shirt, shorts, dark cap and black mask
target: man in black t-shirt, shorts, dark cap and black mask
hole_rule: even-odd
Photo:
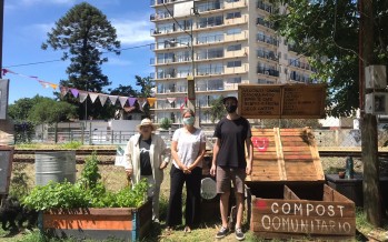
[[[247,119],[237,114],[237,98],[227,97],[223,99],[227,117],[217,123],[213,147],[213,158],[210,174],[216,175],[217,193],[220,194],[220,212],[222,226],[216,238],[225,238],[229,233],[228,208],[231,184],[233,182],[236,194],[236,239],[243,240],[241,221],[243,214],[243,182],[246,175],[252,170],[253,145],[250,124]],[[246,159],[246,144],[248,160]]]

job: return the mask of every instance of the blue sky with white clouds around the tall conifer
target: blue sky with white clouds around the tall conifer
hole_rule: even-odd
[[[36,79],[23,75],[34,75],[39,80],[56,84],[67,78],[66,69],[69,62],[56,61],[61,58],[62,52],[50,48],[42,50],[41,43],[47,40],[47,32],[54,27],[54,22],[74,4],[83,1],[6,0],[4,2],[2,65],[18,73],[3,75],[4,79],[10,79],[9,103],[37,94],[53,98],[52,88],[44,89]],[[117,88],[119,84],[135,87],[135,75],[148,77],[153,71],[150,65],[150,58],[153,57],[150,48],[137,48],[153,42],[150,37],[150,29],[153,28],[149,21],[152,13],[150,1],[87,0],[86,2],[107,16],[117,30],[122,49],[133,48],[122,51],[120,56],[106,56],[109,62],[102,65],[102,72],[112,82],[107,88]]]

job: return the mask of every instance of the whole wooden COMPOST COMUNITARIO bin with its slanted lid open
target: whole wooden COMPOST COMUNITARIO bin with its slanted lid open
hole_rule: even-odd
[[[312,131],[252,129],[250,230],[265,239],[354,239],[355,203],[325,185]]]

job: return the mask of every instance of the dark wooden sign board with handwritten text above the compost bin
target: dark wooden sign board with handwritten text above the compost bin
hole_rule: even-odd
[[[239,113],[248,119],[325,118],[325,84],[239,84]]]

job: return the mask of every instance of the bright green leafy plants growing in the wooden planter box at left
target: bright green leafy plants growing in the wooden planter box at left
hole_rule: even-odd
[[[138,208],[147,200],[148,183],[140,181],[133,188],[118,192],[108,191],[101,181],[96,152],[86,159],[80,179],[74,184],[64,181],[38,185],[22,199],[22,203],[36,210],[78,208]]]

